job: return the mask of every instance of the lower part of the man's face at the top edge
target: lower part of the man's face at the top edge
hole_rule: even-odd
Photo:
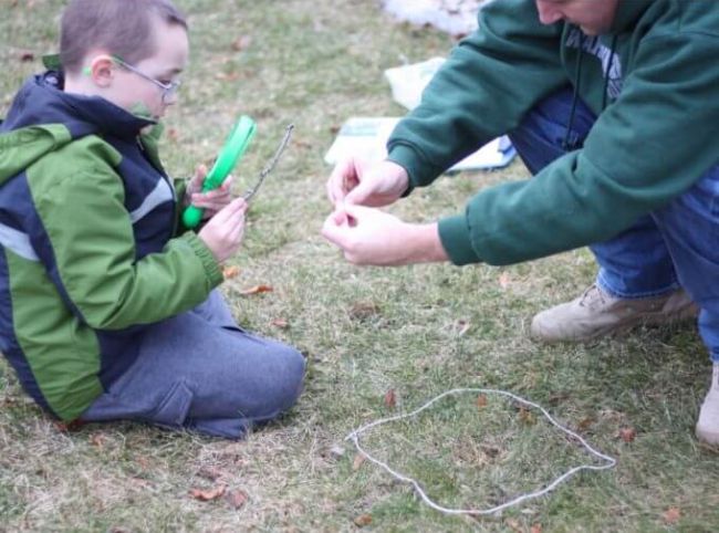
[[[564,20],[579,25],[587,35],[600,35],[612,28],[619,0],[536,0],[543,24]]]

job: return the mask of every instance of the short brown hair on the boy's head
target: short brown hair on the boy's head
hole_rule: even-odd
[[[71,0],[62,14],[60,62],[76,74],[87,52],[104,48],[127,63],[155,53],[154,17],[187,30],[185,15],[171,0]]]

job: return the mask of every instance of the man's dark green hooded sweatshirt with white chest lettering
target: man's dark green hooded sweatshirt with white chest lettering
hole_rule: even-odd
[[[398,124],[388,158],[410,187],[426,186],[571,83],[598,115],[582,149],[532,179],[480,191],[463,215],[439,221],[439,234],[456,264],[598,242],[719,161],[718,60],[719,2],[619,0],[608,34],[580,38],[564,22],[542,25],[534,0],[494,0]]]

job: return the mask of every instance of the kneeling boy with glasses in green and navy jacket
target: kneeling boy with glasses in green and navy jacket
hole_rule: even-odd
[[[240,438],[300,394],[302,356],[238,327],[213,290],[243,200],[229,182],[174,189],[158,159],[188,50],[170,0],[72,0],[62,67],[0,126],[0,349],[64,421]],[[189,200],[211,215],[197,234],[179,222]]]

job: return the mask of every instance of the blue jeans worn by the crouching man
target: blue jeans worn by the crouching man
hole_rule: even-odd
[[[533,175],[566,153],[571,106],[572,91],[566,87],[540,102],[509,134]],[[581,148],[595,121],[577,102],[570,146]],[[660,296],[685,289],[701,309],[699,332],[712,360],[719,362],[719,165],[666,207],[590,249],[600,266],[597,285],[616,297]]]

